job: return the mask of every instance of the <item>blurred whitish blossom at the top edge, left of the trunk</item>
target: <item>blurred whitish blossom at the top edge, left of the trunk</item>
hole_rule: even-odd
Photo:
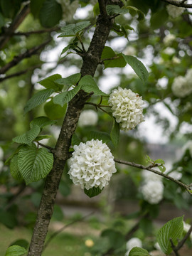
[[[79,2],[78,0],[73,1],[70,4],[70,0],[56,0],[58,4],[62,6],[63,10],[63,20],[64,21],[71,21],[75,14],[75,11],[78,9]]]

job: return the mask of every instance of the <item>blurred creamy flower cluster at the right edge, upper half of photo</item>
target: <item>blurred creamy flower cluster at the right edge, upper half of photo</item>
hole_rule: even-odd
[[[192,68],[187,70],[185,76],[179,75],[174,79],[171,90],[176,97],[185,97],[192,92]]]

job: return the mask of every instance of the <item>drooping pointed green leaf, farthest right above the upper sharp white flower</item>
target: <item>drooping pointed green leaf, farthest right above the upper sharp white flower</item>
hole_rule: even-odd
[[[138,60],[136,57],[130,55],[124,55],[122,53],[124,60],[132,67],[134,72],[138,75],[138,77],[142,80],[142,82],[146,83],[149,73],[146,70],[144,64]]]

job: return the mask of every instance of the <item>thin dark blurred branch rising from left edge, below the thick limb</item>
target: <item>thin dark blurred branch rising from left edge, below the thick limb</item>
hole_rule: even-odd
[[[0,69],[0,74],[6,73],[10,68],[13,68],[15,65],[21,62],[24,58],[30,58],[32,55],[38,53],[38,50],[46,46],[52,39],[48,39],[48,41],[42,43],[40,46],[35,46],[29,50],[26,50],[25,53],[20,54],[18,56],[15,56],[13,60],[11,60],[10,63],[7,63],[4,65],[3,68]]]

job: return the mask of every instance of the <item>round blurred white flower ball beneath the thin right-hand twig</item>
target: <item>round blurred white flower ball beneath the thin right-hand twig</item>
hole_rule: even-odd
[[[146,181],[140,191],[144,196],[144,200],[151,204],[161,201],[164,193],[164,185],[162,181]]]

